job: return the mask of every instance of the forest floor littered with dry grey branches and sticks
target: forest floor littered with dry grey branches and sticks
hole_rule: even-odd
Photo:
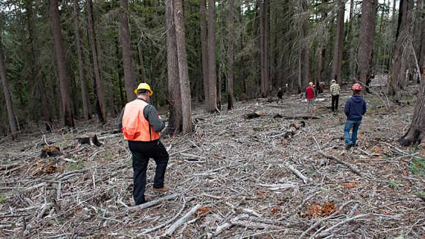
[[[315,118],[296,95],[194,110],[193,134],[162,138],[169,192],[152,190],[149,162],[147,200],[169,197],[145,208],[132,207],[131,155],[112,120],[2,140],[0,238],[425,238],[425,147],[397,142],[414,97],[366,95],[358,146],[347,150],[349,94],[332,114],[325,92]],[[100,147],[77,143],[94,134]],[[46,144],[61,154],[40,158]]]

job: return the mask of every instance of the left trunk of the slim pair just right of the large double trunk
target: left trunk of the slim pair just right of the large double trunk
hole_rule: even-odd
[[[201,53],[202,53],[202,82],[204,83],[205,105],[209,110],[209,86],[208,86],[208,42],[206,38],[206,5],[205,0],[199,3],[199,21],[201,21]]]

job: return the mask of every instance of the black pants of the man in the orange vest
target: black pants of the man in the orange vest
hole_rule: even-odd
[[[134,203],[138,205],[145,203],[146,170],[149,158],[153,158],[156,163],[154,188],[162,188],[169,155],[160,140],[151,142],[129,140],[128,148],[132,152],[133,160]]]

